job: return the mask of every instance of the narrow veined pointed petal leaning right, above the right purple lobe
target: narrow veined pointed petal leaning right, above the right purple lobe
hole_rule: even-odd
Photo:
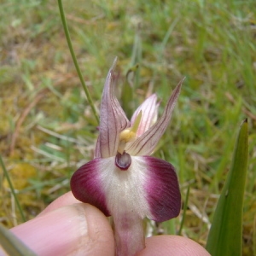
[[[125,150],[131,155],[148,155],[152,154],[156,144],[159,142],[160,137],[166,131],[167,125],[172,117],[172,111],[177,102],[177,97],[181,90],[183,84],[183,79],[177,84],[176,88],[172,92],[172,96],[169,98],[164,113],[156,121],[156,123],[151,126],[148,131],[143,133],[141,137],[138,137],[136,141],[127,145]]]

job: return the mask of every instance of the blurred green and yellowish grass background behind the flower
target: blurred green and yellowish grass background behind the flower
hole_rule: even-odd
[[[161,111],[174,86],[186,77],[172,125],[154,155],[177,167],[183,201],[190,185],[182,234],[202,245],[230,168],[238,127],[248,117],[243,254],[252,255],[254,1],[75,3],[66,0],[63,6],[74,52],[97,109],[115,56],[124,78],[119,96],[130,114],[151,89],[161,100]],[[96,119],[73,66],[56,1],[4,0],[0,15],[0,152],[26,218],[33,218],[69,189],[72,173],[92,158]],[[134,98],[129,100],[121,94],[121,85],[137,63]],[[0,175],[0,219],[10,227],[22,218],[3,172]],[[176,225],[178,230],[180,221],[163,228],[173,230]]]

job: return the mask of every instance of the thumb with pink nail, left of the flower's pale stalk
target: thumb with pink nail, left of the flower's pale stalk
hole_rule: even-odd
[[[12,229],[38,255],[114,255],[113,231],[96,207],[76,203]]]

